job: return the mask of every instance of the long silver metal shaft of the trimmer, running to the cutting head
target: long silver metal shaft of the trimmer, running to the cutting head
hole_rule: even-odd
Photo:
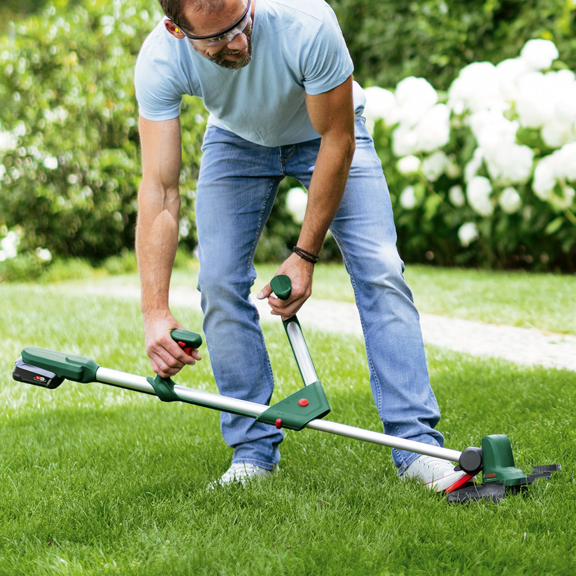
[[[127,372],[119,372],[118,370],[100,367],[96,372],[96,380],[98,382],[103,382],[103,384],[112,384],[113,386],[119,386],[120,388],[128,388],[130,390],[145,392],[146,394],[156,396],[153,386],[149,384],[143,376],[135,376],[134,374],[128,374]],[[238,400],[237,398],[222,396],[212,392],[194,390],[187,386],[176,385],[174,386],[174,391],[181,398],[202,404],[209,404],[217,410],[241,410],[242,412],[255,416],[255,418],[268,409],[268,406],[265,404],[257,404],[256,402]],[[372,430],[365,430],[355,426],[331,422],[330,420],[312,420],[306,424],[306,428],[328,432],[329,434],[346,436],[347,438],[354,438],[364,442],[372,442],[372,444],[380,444],[381,446],[389,446],[390,448],[397,448],[399,450],[408,450],[408,452],[435,456],[451,462],[457,462],[460,459],[461,454],[458,450],[439,448],[439,446],[425,444],[424,442],[397,438],[396,436],[391,436],[389,434],[382,434]]]

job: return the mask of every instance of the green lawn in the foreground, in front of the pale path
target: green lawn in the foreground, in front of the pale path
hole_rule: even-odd
[[[560,462],[551,482],[499,505],[449,506],[400,483],[389,450],[286,434],[281,473],[207,492],[231,455],[218,413],[110,386],[12,381],[25,345],[149,374],[138,302],[0,286],[0,574],[574,574],[576,374],[429,348],[446,445],[510,435],[517,465]],[[177,310],[198,326],[190,309]],[[380,430],[362,343],[306,331],[329,419]],[[266,327],[275,399],[300,384]],[[238,367],[241,370],[241,366]],[[215,391],[209,358],[177,377]]]

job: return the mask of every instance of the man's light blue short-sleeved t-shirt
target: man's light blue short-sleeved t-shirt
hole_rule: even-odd
[[[256,0],[252,60],[228,70],[178,40],[164,20],[144,41],[135,69],[140,114],[169,120],[183,94],[203,99],[208,122],[263,146],[318,138],[306,94],[339,86],[354,69],[336,16],[324,0]],[[363,108],[354,86],[355,109]]]

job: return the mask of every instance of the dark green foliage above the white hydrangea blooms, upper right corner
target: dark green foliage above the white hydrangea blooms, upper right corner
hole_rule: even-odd
[[[463,66],[513,58],[534,37],[553,40],[576,69],[572,0],[328,0],[362,85],[410,75],[446,90]]]

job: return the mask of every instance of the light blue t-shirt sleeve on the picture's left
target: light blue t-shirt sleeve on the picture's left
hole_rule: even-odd
[[[134,70],[134,87],[140,115],[146,120],[171,120],[180,115],[182,94],[172,75],[166,63],[154,62],[142,48]]]

